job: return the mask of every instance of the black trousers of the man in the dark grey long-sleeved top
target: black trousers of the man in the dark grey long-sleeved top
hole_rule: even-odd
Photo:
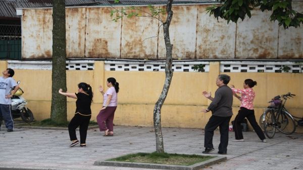
[[[229,121],[231,116],[228,117],[220,117],[220,116],[212,116],[210,120],[207,122],[205,126],[205,137],[204,137],[204,147],[213,148],[213,136],[214,131],[219,126],[220,129],[220,144],[219,151],[227,152],[228,145],[228,129],[229,129]]]

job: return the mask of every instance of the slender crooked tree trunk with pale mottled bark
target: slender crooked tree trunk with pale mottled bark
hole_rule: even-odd
[[[166,22],[163,23],[163,33],[164,33],[164,41],[165,41],[165,47],[166,47],[166,62],[165,62],[165,81],[162,93],[156,102],[155,108],[154,108],[154,128],[156,133],[156,152],[162,153],[164,152],[164,144],[163,144],[163,136],[162,136],[162,129],[161,129],[161,108],[162,105],[166,99],[172,77],[173,77],[173,71],[172,71],[172,50],[173,46],[170,42],[169,37],[169,26],[173,17],[173,11],[172,11],[172,3],[173,0],[168,0],[166,5],[166,13],[167,13],[167,19]]]

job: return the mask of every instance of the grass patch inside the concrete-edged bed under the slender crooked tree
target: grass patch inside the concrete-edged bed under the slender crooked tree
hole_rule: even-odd
[[[214,158],[215,156],[187,155],[177,153],[135,153],[121,157],[109,159],[109,161],[140,162],[140,163],[158,163],[189,166],[198,162],[203,162]]]

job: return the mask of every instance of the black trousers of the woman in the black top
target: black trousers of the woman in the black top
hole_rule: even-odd
[[[70,135],[71,141],[78,140],[76,136],[76,129],[79,126],[79,132],[80,132],[80,143],[84,144],[86,141],[86,135],[87,135],[87,128],[90,121],[91,115],[89,116],[82,116],[80,114],[75,114],[75,116],[72,118],[68,125],[68,132]]]

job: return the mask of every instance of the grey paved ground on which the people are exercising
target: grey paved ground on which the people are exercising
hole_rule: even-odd
[[[142,169],[94,166],[95,160],[136,152],[155,151],[152,127],[115,126],[114,137],[104,137],[98,129],[88,130],[87,147],[69,148],[67,130],[15,129],[0,131],[0,169]],[[202,129],[163,128],[165,151],[202,154]],[[78,132],[77,132],[78,134]],[[227,161],[205,169],[303,169],[303,134],[277,133],[267,143],[255,132],[244,132],[245,142],[232,142],[230,132]],[[214,135],[217,155],[219,131]]]

